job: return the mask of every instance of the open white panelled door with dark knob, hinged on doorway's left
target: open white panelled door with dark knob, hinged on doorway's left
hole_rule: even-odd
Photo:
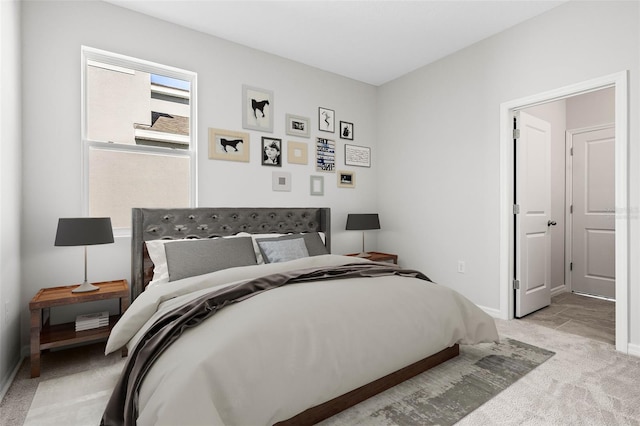
[[[516,317],[551,304],[551,125],[516,114]]]

